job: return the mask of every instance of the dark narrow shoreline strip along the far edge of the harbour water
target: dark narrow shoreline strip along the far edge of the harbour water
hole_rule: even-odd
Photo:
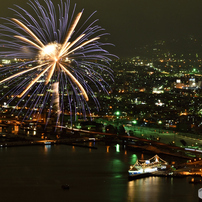
[[[125,136],[123,136],[122,138],[125,138]],[[144,142],[145,139],[139,139],[140,141]],[[124,148],[126,150],[130,150],[130,151],[140,151],[140,152],[145,152],[145,153],[153,153],[153,154],[163,154],[163,155],[168,155],[168,156],[173,156],[173,157],[178,157],[178,158],[182,158],[182,159],[189,159],[189,160],[193,160],[195,158],[198,158],[202,155],[201,152],[196,152],[196,151],[182,151],[183,149],[180,147],[176,147],[176,146],[171,146],[169,144],[164,144],[164,143],[160,143],[159,142],[154,142],[151,141],[151,145],[148,145],[145,147],[145,145],[134,145],[131,144],[129,142],[127,143],[123,143],[123,141],[120,140],[111,140],[109,141],[108,139],[94,139],[94,140],[90,140],[88,137],[83,136],[83,137],[77,137],[77,138],[64,138],[64,139],[46,139],[46,140],[42,140],[40,138],[34,139],[31,137],[28,138],[22,138],[19,137],[19,139],[15,139],[15,141],[12,141],[12,138],[10,139],[10,141],[6,141],[6,142],[2,142],[0,143],[0,147],[5,148],[5,147],[20,147],[20,146],[45,146],[45,145],[59,145],[59,144],[63,144],[63,145],[69,145],[69,146],[76,146],[76,147],[83,147],[83,148],[90,148],[90,149],[97,149],[97,147],[95,146],[91,146],[91,145],[84,145],[84,143],[86,142],[98,142],[98,141],[102,141],[105,142],[106,144],[109,143],[109,145],[111,144],[122,144],[122,146],[124,146]],[[146,140],[148,141],[148,140]],[[152,147],[152,148],[150,148]],[[167,148],[165,150],[165,148]]]

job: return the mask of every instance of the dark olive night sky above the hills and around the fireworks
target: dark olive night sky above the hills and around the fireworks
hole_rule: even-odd
[[[26,2],[4,0],[0,15],[12,17],[8,7],[27,8]],[[111,34],[108,40],[115,48],[109,49],[119,57],[133,56],[135,47],[154,40],[202,36],[202,0],[72,0],[71,5],[74,3],[78,12],[85,9],[83,17],[97,10],[93,19],[99,18]]]

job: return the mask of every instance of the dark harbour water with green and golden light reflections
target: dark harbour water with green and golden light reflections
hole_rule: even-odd
[[[198,201],[201,185],[189,184],[189,178],[128,181],[127,170],[136,155],[115,146],[97,146],[97,150],[66,145],[1,148],[0,201]],[[65,183],[70,190],[61,189]]]

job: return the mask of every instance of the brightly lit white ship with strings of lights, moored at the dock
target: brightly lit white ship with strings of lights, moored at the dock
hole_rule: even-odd
[[[157,171],[166,170],[168,163],[161,159],[158,155],[148,160],[138,160],[128,170],[129,177],[146,177]]]

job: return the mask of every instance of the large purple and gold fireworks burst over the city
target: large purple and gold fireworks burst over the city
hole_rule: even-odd
[[[107,92],[109,87],[101,73],[112,79],[108,68],[112,55],[102,48],[108,44],[99,40],[107,33],[97,20],[90,22],[94,13],[81,24],[83,11],[74,17],[74,6],[70,14],[69,0],[57,5],[58,12],[50,0],[44,5],[38,1],[28,4],[36,17],[16,6],[12,9],[15,18],[4,19],[7,23],[0,25],[0,57],[15,58],[0,68],[0,85],[9,89],[7,93],[1,90],[1,100],[7,105],[15,103],[18,115],[27,109],[24,118],[39,119],[44,110],[50,115],[55,100],[50,97],[57,94],[57,120],[64,112],[85,117],[89,99],[99,107],[93,88]]]

